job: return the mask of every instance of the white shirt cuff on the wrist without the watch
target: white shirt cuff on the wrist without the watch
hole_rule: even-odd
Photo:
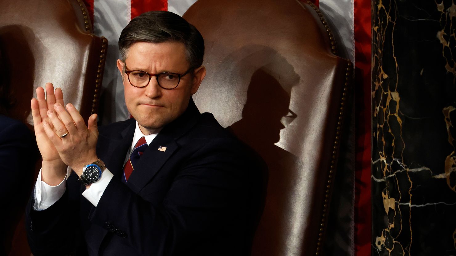
[[[35,183],[35,204],[33,205],[33,209],[36,211],[46,210],[50,206],[52,206],[55,202],[57,202],[60,197],[65,194],[65,189],[67,188],[66,179],[68,177],[68,170],[71,173],[71,169],[67,169],[67,176],[60,182],[57,186],[49,186],[46,182],[41,181],[41,169],[38,173],[38,178],[36,179]]]

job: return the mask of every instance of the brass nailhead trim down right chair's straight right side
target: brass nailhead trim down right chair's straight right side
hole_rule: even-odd
[[[347,91],[348,90],[348,81],[350,80],[351,78],[351,75],[352,75],[352,70],[353,70],[353,65],[352,63],[350,62],[350,60],[347,60],[348,61],[348,64],[347,64],[347,72],[345,73],[345,80],[347,82],[344,83],[344,88],[343,88],[343,91]],[[334,171],[336,170],[336,155],[337,155],[337,146],[339,144],[339,140],[340,140],[340,130],[342,129],[342,120],[343,120],[343,115],[344,115],[344,107],[343,105],[346,104],[346,101],[347,101],[347,97],[346,97],[346,93],[343,92],[342,93],[342,97],[341,97],[341,105],[340,105],[340,112],[339,112],[339,116],[337,117],[337,120],[339,120],[337,122],[337,131],[336,131],[336,136],[334,138],[334,145],[333,146],[333,149],[334,151],[332,151],[332,161],[331,161],[331,166],[329,167],[330,170],[328,172],[328,175],[327,175],[327,185],[326,185],[326,193],[325,193],[325,199],[324,199],[324,204],[323,204],[323,213],[321,215],[321,223],[320,223],[320,233],[318,234],[319,238],[318,238],[318,243],[316,245],[316,255],[319,255],[319,251],[321,250],[321,237],[323,236],[323,232],[324,232],[324,227],[325,227],[325,220],[326,220],[326,211],[328,210],[328,198],[330,197],[330,192],[331,192],[331,183],[332,183],[332,177],[333,177],[333,173]]]

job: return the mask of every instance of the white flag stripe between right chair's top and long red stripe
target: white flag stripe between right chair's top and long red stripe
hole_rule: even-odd
[[[320,0],[320,9],[337,36],[339,55],[355,64],[353,0]]]

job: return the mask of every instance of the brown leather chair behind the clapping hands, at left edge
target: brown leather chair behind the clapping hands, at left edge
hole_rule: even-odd
[[[30,100],[38,86],[52,82],[87,120],[98,108],[108,41],[93,35],[82,1],[0,0],[0,6],[0,79],[15,99],[10,116],[33,124]],[[27,253],[23,225],[16,229],[10,255]]]

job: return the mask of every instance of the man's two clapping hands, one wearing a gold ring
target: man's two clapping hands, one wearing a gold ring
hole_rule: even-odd
[[[80,176],[83,166],[98,159],[95,152],[97,115],[91,115],[86,126],[74,105],[63,104],[60,88],[54,91],[54,86],[47,83],[46,94],[45,98],[43,88],[36,89],[31,110],[36,142],[43,157],[41,179],[55,186],[66,175],[66,166]]]

